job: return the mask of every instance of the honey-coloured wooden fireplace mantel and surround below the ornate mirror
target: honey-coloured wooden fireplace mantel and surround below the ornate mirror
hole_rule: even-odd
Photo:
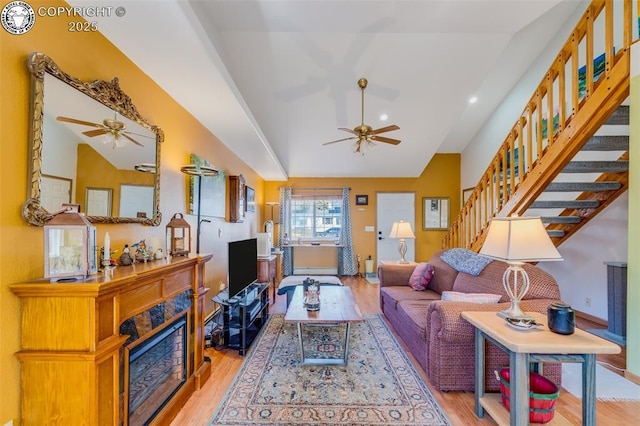
[[[209,378],[204,357],[204,264],[210,254],[120,266],[75,283],[34,280],[10,286],[22,304],[23,425],[118,425],[126,319],[192,291],[188,378],[153,423],[175,416]]]

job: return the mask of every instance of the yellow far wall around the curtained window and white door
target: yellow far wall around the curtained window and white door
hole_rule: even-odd
[[[351,188],[351,221],[353,230],[354,253],[362,259],[372,255],[376,258],[376,233],[365,232],[365,226],[376,225],[376,194],[380,192],[415,193],[416,211],[416,261],[425,261],[442,247],[446,231],[422,230],[422,198],[450,197],[450,222],[455,218],[460,206],[460,154],[436,154],[418,178],[291,178],[287,182],[265,182],[265,200],[277,201],[279,189],[283,186],[293,188]],[[368,206],[356,206],[355,195],[369,196]],[[271,208],[265,209],[263,217],[271,217]],[[362,211],[361,211],[362,209]],[[274,214],[277,211],[274,210]],[[335,263],[335,262],[334,262]],[[364,265],[362,266],[364,271]]]

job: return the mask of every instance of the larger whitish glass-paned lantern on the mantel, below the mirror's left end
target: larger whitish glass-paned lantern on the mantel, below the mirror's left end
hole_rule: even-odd
[[[44,226],[44,276],[84,279],[98,271],[96,228],[80,213],[80,205],[62,207]]]

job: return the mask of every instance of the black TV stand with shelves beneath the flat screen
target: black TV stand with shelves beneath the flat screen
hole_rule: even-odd
[[[269,318],[269,283],[253,283],[222,303],[224,341],[240,355],[246,353]]]

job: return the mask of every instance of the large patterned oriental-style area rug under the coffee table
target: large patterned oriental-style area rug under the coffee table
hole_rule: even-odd
[[[300,365],[296,325],[283,319],[265,325],[210,426],[450,425],[379,315],[352,325],[347,366]],[[305,330],[305,351],[342,354],[343,326]]]

